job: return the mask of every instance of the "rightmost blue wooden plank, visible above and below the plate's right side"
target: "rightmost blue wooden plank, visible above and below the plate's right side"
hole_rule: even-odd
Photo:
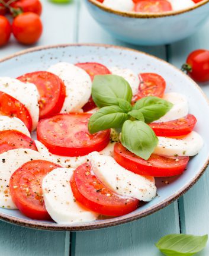
[[[208,30],[209,22],[205,24],[200,31],[194,34],[194,36],[171,45],[169,49],[171,63],[180,68],[182,63],[185,62],[187,55],[192,50],[208,49]],[[200,86],[205,94],[207,94],[209,97],[209,83],[200,84]],[[208,117],[205,116],[205,118]],[[207,169],[200,181],[198,181],[197,184],[179,200],[179,214],[182,233],[196,235],[204,235],[209,233],[208,180],[209,173]],[[200,255],[209,255],[209,244]]]

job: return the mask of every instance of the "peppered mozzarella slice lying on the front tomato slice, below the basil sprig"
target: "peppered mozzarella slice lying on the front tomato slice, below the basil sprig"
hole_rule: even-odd
[[[156,196],[155,179],[130,172],[111,156],[102,156],[98,152],[89,154],[93,172],[107,188],[127,197],[150,201]]]

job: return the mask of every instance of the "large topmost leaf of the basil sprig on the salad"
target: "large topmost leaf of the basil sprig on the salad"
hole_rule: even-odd
[[[118,75],[95,75],[92,83],[92,98],[99,108],[119,105],[118,99],[131,102],[132,90],[123,77]]]

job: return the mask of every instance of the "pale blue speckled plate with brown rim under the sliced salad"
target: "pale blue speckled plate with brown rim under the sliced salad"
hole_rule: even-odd
[[[172,65],[154,56],[108,45],[62,45],[26,50],[2,59],[0,76],[18,77],[26,72],[46,70],[59,61],[100,62],[108,67],[118,66],[133,69],[135,72],[156,72],[162,75],[167,83],[167,92],[175,91],[187,96],[189,112],[198,119],[195,131],[201,134],[204,147],[197,156],[192,157],[187,170],[181,176],[156,179],[157,197],[125,216],[88,223],[58,225],[54,222],[28,219],[18,210],[0,208],[0,219],[16,225],[48,230],[89,230],[115,226],[155,213],[168,206],[197,182],[209,160],[209,105],[207,98],[194,81]]]

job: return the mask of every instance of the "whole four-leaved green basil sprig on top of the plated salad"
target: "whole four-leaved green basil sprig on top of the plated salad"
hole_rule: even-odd
[[[149,159],[158,139],[147,124],[165,115],[172,108],[172,103],[149,96],[132,106],[131,87],[118,75],[95,75],[92,98],[101,109],[91,116],[89,132],[93,134],[104,129],[120,128],[123,146],[137,156]]]

